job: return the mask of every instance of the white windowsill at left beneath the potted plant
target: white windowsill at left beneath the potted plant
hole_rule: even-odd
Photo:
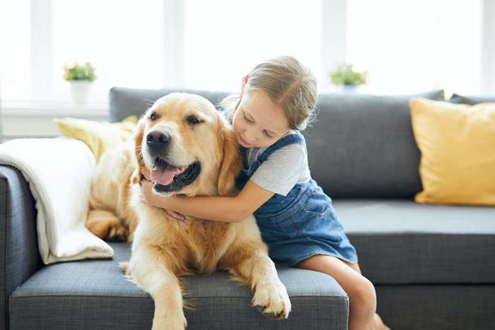
[[[76,105],[72,102],[1,102],[4,118],[8,117],[108,117],[108,103]]]

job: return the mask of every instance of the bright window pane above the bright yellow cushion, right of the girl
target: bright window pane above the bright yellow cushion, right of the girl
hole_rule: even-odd
[[[347,61],[370,93],[481,88],[482,1],[349,0]]]

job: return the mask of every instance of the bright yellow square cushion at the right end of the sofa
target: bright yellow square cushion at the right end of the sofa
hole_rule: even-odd
[[[411,100],[422,204],[495,206],[495,103]]]

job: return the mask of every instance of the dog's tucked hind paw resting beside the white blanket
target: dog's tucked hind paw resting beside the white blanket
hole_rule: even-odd
[[[90,210],[86,228],[103,240],[127,240],[129,230],[122,225],[117,216],[110,211]]]

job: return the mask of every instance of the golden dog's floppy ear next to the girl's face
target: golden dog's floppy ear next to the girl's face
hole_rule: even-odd
[[[239,145],[235,134],[230,125],[223,122],[219,136],[221,148],[223,148],[223,158],[219,175],[219,194],[220,196],[233,196],[238,192],[235,185],[235,178],[239,175],[242,168],[242,158],[239,153]],[[223,141],[222,141],[223,140]]]

